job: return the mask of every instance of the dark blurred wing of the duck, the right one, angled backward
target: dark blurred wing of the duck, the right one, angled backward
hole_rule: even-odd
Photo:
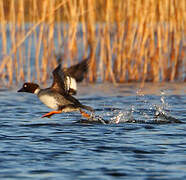
[[[89,57],[83,59],[78,64],[65,68],[64,71],[69,76],[73,77],[77,82],[81,82],[89,68]]]

